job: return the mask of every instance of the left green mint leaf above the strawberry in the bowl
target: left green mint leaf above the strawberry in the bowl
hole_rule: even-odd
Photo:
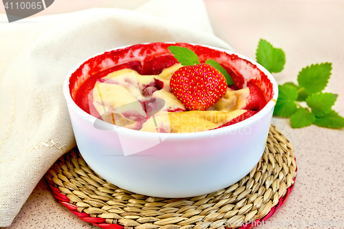
[[[187,47],[171,45],[169,46],[169,50],[172,54],[174,54],[174,57],[177,59],[177,61],[183,66],[197,65],[200,63],[200,61],[198,61],[197,54],[195,54],[195,52],[192,50],[189,50]]]

